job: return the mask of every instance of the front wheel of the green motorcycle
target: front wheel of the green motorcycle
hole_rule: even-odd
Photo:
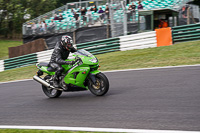
[[[88,88],[96,96],[103,96],[109,90],[109,81],[103,73],[99,73],[95,76],[96,83],[94,84],[89,80]]]

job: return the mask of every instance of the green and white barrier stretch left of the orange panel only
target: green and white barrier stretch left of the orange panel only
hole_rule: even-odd
[[[92,54],[102,54],[120,50],[143,49],[156,47],[155,31],[123,36],[119,38],[109,38],[88,43],[76,44],[77,49],[85,49]],[[37,62],[49,62],[53,49],[36,52],[33,54],[18,56],[1,61],[0,71],[13,69]],[[69,55],[69,58],[72,54]]]

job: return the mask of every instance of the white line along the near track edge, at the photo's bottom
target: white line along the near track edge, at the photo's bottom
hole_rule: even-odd
[[[115,133],[200,133],[200,131],[181,130],[147,130],[147,129],[121,129],[121,128],[91,128],[91,127],[58,127],[58,126],[11,126],[0,125],[0,129],[37,129],[37,130],[65,130],[87,132],[115,132]]]

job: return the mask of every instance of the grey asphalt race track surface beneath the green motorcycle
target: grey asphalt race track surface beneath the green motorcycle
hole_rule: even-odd
[[[105,75],[103,97],[83,91],[49,99],[32,80],[0,84],[0,125],[200,131],[199,66]]]

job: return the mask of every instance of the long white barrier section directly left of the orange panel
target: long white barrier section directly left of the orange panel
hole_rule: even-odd
[[[119,38],[121,51],[152,48],[157,46],[155,31],[121,36]]]

